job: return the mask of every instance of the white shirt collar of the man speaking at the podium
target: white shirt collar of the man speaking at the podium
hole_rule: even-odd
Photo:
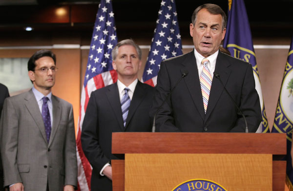
[[[213,53],[212,55],[210,55],[209,57],[207,57],[207,59],[209,60],[208,68],[211,74],[211,79],[213,78],[213,73],[215,71],[218,54],[219,54],[219,50]],[[198,69],[198,77],[200,78],[201,72],[204,68],[204,65],[201,64],[201,62],[205,57],[203,57],[200,53],[198,53],[195,48],[194,48],[194,56],[196,59],[196,65]]]

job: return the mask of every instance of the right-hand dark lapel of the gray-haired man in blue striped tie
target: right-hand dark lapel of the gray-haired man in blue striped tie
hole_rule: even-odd
[[[142,83],[140,81],[138,81],[137,85],[135,86],[132,100],[130,102],[125,129],[127,128],[127,126],[129,124],[131,118],[133,117],[137,107],[141,104],[141,102],[144,100],[145,97],[146,97],[146,92],[142,86]]]

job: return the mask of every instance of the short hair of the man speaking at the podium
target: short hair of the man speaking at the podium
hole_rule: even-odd
[[[223,9],[216,5],[216,4],[211,4],[211,3],[207,3],[207,4],[203,4],[200,5],[199,7],[197,7],[192,14],[191,17],[191,22],[194,26],[195,22],[196,22],[196,16],[197,13],[201,10],[201,9],[207,9],[209,11],[210,14],[212,15],[221,15],[222,16],[222,30],[224,30],[224,28],[226,28],[227,25],[227,16],[225,14],[225,12],[223,11]]]

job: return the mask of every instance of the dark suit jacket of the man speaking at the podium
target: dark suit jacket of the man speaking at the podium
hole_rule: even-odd
[[[156,116],[156,131],[245,132],[245,123],[219,79],[213,77],[205,114],[194,51],[165,60],[158,74],[153,115],[184,71],[188,75],[173,90]],[[219,52],[215,71],[255,132],[262,117],[251,64]]]

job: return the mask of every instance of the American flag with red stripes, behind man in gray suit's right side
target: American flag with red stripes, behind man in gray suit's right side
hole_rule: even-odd
[[[78,189],[80,191],[90,191],[92,171],[88,160],[84,156],[81,144],[84,114],[91,92],[117,81],[117,73],[112,67],[111,56],[112,49],[116,44],[117,35],[112,2],[101,0],[90,43],[77,129]]]

